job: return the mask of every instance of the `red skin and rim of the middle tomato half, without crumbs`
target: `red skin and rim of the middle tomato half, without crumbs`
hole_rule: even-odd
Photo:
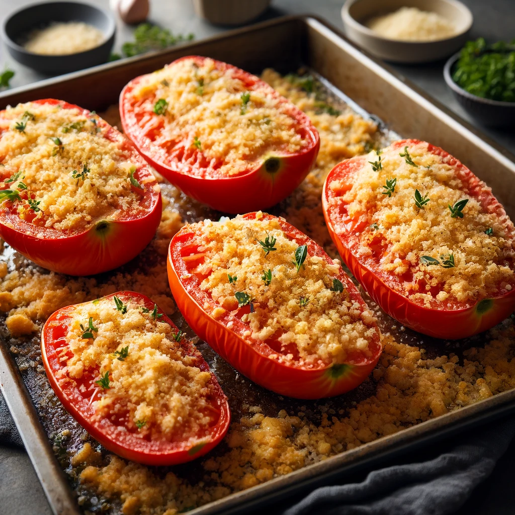
[[[246,218],[255,218],[248,213]],[[281,218],[263,215],[264,219],[277,219],[288,237],[295,238],[299,245],[306,244],[310,255],[319,255],[332,263],[331,258],[313,240]],[[172,241],[168,252],[168,280],[174,299],[185,320],[195,333],[236,370],[259,385],[284,396],[297,399],[320,399],[345,393],[361,384],[379,361],[382,352],[379,329],[375,322],[375,336],[369,342],[370,356],[355,351],[349,355],[345,365],[320,364],[316,368],[303,368],[296,363],[280,363],[270,354],[277,354],[265,342],[249,341],[243,337],[248,325],[236,316],[226,312],[215,319],[204,308],[215,306],[211,297],[200,289],[200,281],[191,274],[182,259],[181,249],[192,236],[185,226]],[[344,284],[349,295],[365,309],[365,302],[340,268],[338,279]],[[228,323],[231,327],[228,327]]]

